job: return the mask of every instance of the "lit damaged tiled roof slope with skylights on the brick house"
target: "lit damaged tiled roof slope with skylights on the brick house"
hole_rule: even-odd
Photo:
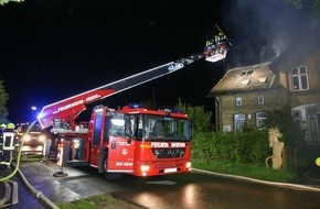
[[[206,97],[279,88],[279,78],[270,69],[270,64],[267,62],[230,69]]]

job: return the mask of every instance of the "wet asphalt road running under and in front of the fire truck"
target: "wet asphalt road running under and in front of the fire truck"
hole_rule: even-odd
[[[320,188],[275,184],[202,170],[166,177],[139,178],[129,175],[108,182],[92,167],[66,167],[66,177],[54,177],[53,163],[23,163],[25,178],[41,195],[30,195],[19,180],[19,204],[9,208],[49,208],[35,196],[52,202],[71,201],[98,194],[150,209],[175,208],[318,208]]]

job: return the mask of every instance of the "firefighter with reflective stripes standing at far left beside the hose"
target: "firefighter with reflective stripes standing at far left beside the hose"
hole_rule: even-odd
[[[19,145],[19,139],[14,131],[14,124],[8,123],[7,129],[2,133],[2,156],[1,156],[1,168],[7,169],[10,167],[12,161],[12,154],[15,146]]]

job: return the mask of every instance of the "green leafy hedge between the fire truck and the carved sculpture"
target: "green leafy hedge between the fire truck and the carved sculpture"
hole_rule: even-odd
[[[264,164],[271,155],[266,131],[241,133],[195,133],[192,141],[192,160],[201,163],[228,161],[242,164]]]

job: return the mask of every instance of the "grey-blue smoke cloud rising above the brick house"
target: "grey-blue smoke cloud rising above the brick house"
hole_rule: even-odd
[[[277,56],[312,24],[312,12],[285,0],[225,1],[223,26],[233,44],[230,67],[266,62]]]

